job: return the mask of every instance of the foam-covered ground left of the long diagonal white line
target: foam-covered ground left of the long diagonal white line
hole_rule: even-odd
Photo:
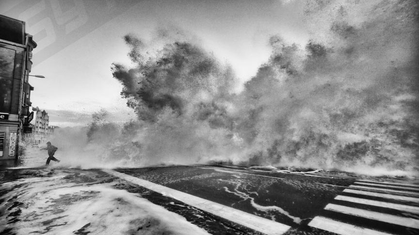
[[[101,170],[5,169],[0,208],[4,235],[260,234]]]

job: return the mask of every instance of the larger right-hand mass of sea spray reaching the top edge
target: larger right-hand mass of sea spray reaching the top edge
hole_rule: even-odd
[[[253,159],[415,168],[415,9],[413,1],[310,1],[313,39],[301,48],[273,37],[273,55],[241,94],[247,118],[238,132],[251,134],[245,139],[259,150]]]

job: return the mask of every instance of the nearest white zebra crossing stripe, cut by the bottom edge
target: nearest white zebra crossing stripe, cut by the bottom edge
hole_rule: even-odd
[[[316,216],[308,223],[308,225],[340,235],[390,235],[387,233],[358,227],[352,224],[327,219],[321,216]]]

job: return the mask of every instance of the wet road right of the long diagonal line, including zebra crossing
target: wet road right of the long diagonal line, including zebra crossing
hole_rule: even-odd
[[[283,234],[348,234],[345,230],[352,231],[349,234],[413,235],[419,232],[419,185],[415,180],[231,166],[117,171],[163,185],[167,188],[160,191],[174,198],[182,196],[176,194],[177,191],[186,192],[290,226]],[[183,197],[182,201],[193,203],[194,200]],[[205,206],[202,208],[206,210]],[[210,206],[207,211],[211,211]]]

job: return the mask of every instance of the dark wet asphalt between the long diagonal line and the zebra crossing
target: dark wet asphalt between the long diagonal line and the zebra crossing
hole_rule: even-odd
[[[307,224],[342,191],[331,185],[355,181],[189,166],[118,171],[289,226]]]

